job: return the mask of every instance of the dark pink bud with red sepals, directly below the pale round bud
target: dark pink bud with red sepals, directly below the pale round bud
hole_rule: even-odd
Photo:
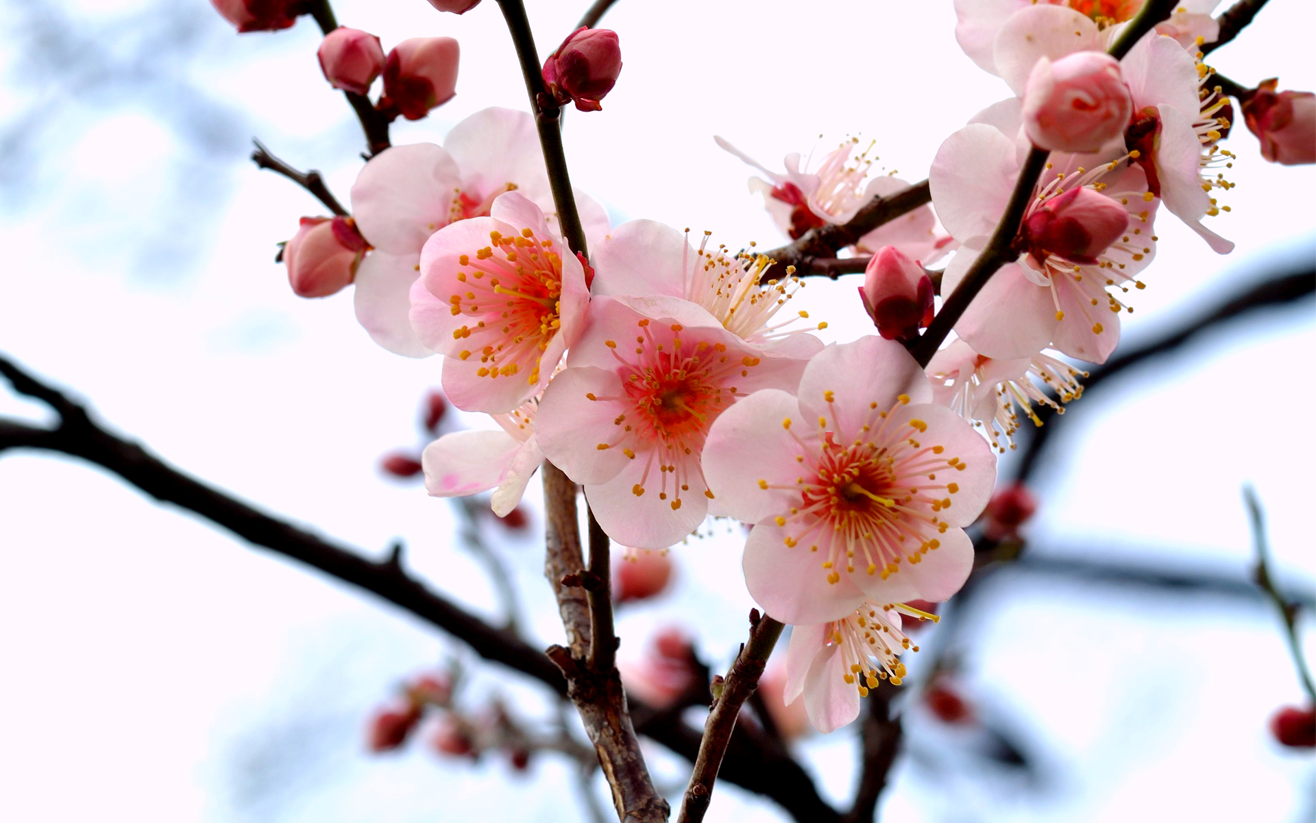
[[[1071,188],[1028,216],[1024,240],[1038,265],[1050,255],[1095,263],[1126,228],[1129,212],[1123,205],[1091,188]]]

